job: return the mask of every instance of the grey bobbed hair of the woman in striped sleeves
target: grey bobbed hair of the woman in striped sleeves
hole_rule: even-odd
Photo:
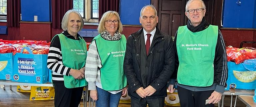
[[[75,14],[77,14],[77,15],[80,17],[81,27],[79,28],[79,31],[82,30],[82,29],[83,29],[83,26],[84,26],[83,17],[81,16],[81,14],[80,14],[78,11],[73,10],[73,9],[72,9],[72,10],[68,10],[68,11],[64,14],[64,16],[63,16],[63,18],[62,18],[62,21],[61,21],[61,28],[62,28],[64,31],[67,31],[67,30],[68,30],[67,25],[68,25],[68,17],[69,17],[69,15],[70,15],[70,13],[75,13]]]

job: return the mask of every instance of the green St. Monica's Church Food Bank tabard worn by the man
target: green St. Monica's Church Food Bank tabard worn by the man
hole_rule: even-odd
[[[205,87],[213,84],[215,48],[218,26],[210,25],[203,31],[191,32],[181,26],[177,33],[179,84]]]

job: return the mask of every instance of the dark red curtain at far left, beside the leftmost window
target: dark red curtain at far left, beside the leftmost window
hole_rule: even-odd
[[[7,27],[20,27],[20,0],[7,0]]]

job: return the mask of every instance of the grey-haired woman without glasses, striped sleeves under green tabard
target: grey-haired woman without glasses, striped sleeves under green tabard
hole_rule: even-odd
[[[55,89],[55,107],[78,107],[83,87],[87,57],[86,42],[78,32],[84,21],[76,10],[68,10],[63,16],[62,33],[53,37],[47,67],[52,70],[52,83]]]

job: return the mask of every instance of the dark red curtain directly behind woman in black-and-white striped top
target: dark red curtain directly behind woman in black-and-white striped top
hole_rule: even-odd
[[[52,28],[61,29],[64,14],[73,9],[73,0],[52,0]]]

